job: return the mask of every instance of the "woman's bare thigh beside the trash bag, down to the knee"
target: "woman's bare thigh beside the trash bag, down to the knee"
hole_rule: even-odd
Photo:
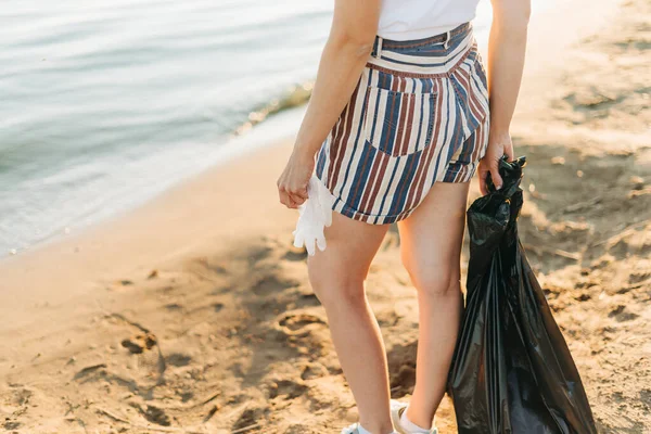
[[[445,291],[458,281],[468,189],[469,182],[435,182],[398,222],[403,263],[417,286]]]

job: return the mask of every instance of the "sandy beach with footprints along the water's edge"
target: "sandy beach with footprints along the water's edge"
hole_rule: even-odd
[[[512,129],[528,162],[520,232],[600,431],[651,433],[651,4],[564,8],[532,18]],[[0,427],[316,434],[356,421],[292,246],[297,213],[278,203],[291,146],[2,259]],[[398,246],[392,227],[367,289],[393,397],[408,399],[418,307]],[[448,398],[437,421],[456,432]]]

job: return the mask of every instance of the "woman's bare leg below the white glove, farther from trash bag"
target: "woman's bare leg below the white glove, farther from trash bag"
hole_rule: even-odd
[[[373,434],[393,431],[386,353],[363,282],[388,225],[369,225],[333,213],[328,246],[307,260],[309,280],[326,308],[332,341],[359,410]]]

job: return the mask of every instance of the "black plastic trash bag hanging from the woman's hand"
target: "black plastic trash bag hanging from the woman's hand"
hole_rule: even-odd
[[[518,239],[525,158],[468,209],[467,307],[449,374],[460,434],[596,433],[585,390]]]

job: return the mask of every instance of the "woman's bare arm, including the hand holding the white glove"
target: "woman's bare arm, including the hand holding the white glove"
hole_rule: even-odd
[[[295,208],[307,199],[315,154],[346,106],[371,52],[381,0],[336,0],[330,37],[294,151],[278,179],[280,202]]]

